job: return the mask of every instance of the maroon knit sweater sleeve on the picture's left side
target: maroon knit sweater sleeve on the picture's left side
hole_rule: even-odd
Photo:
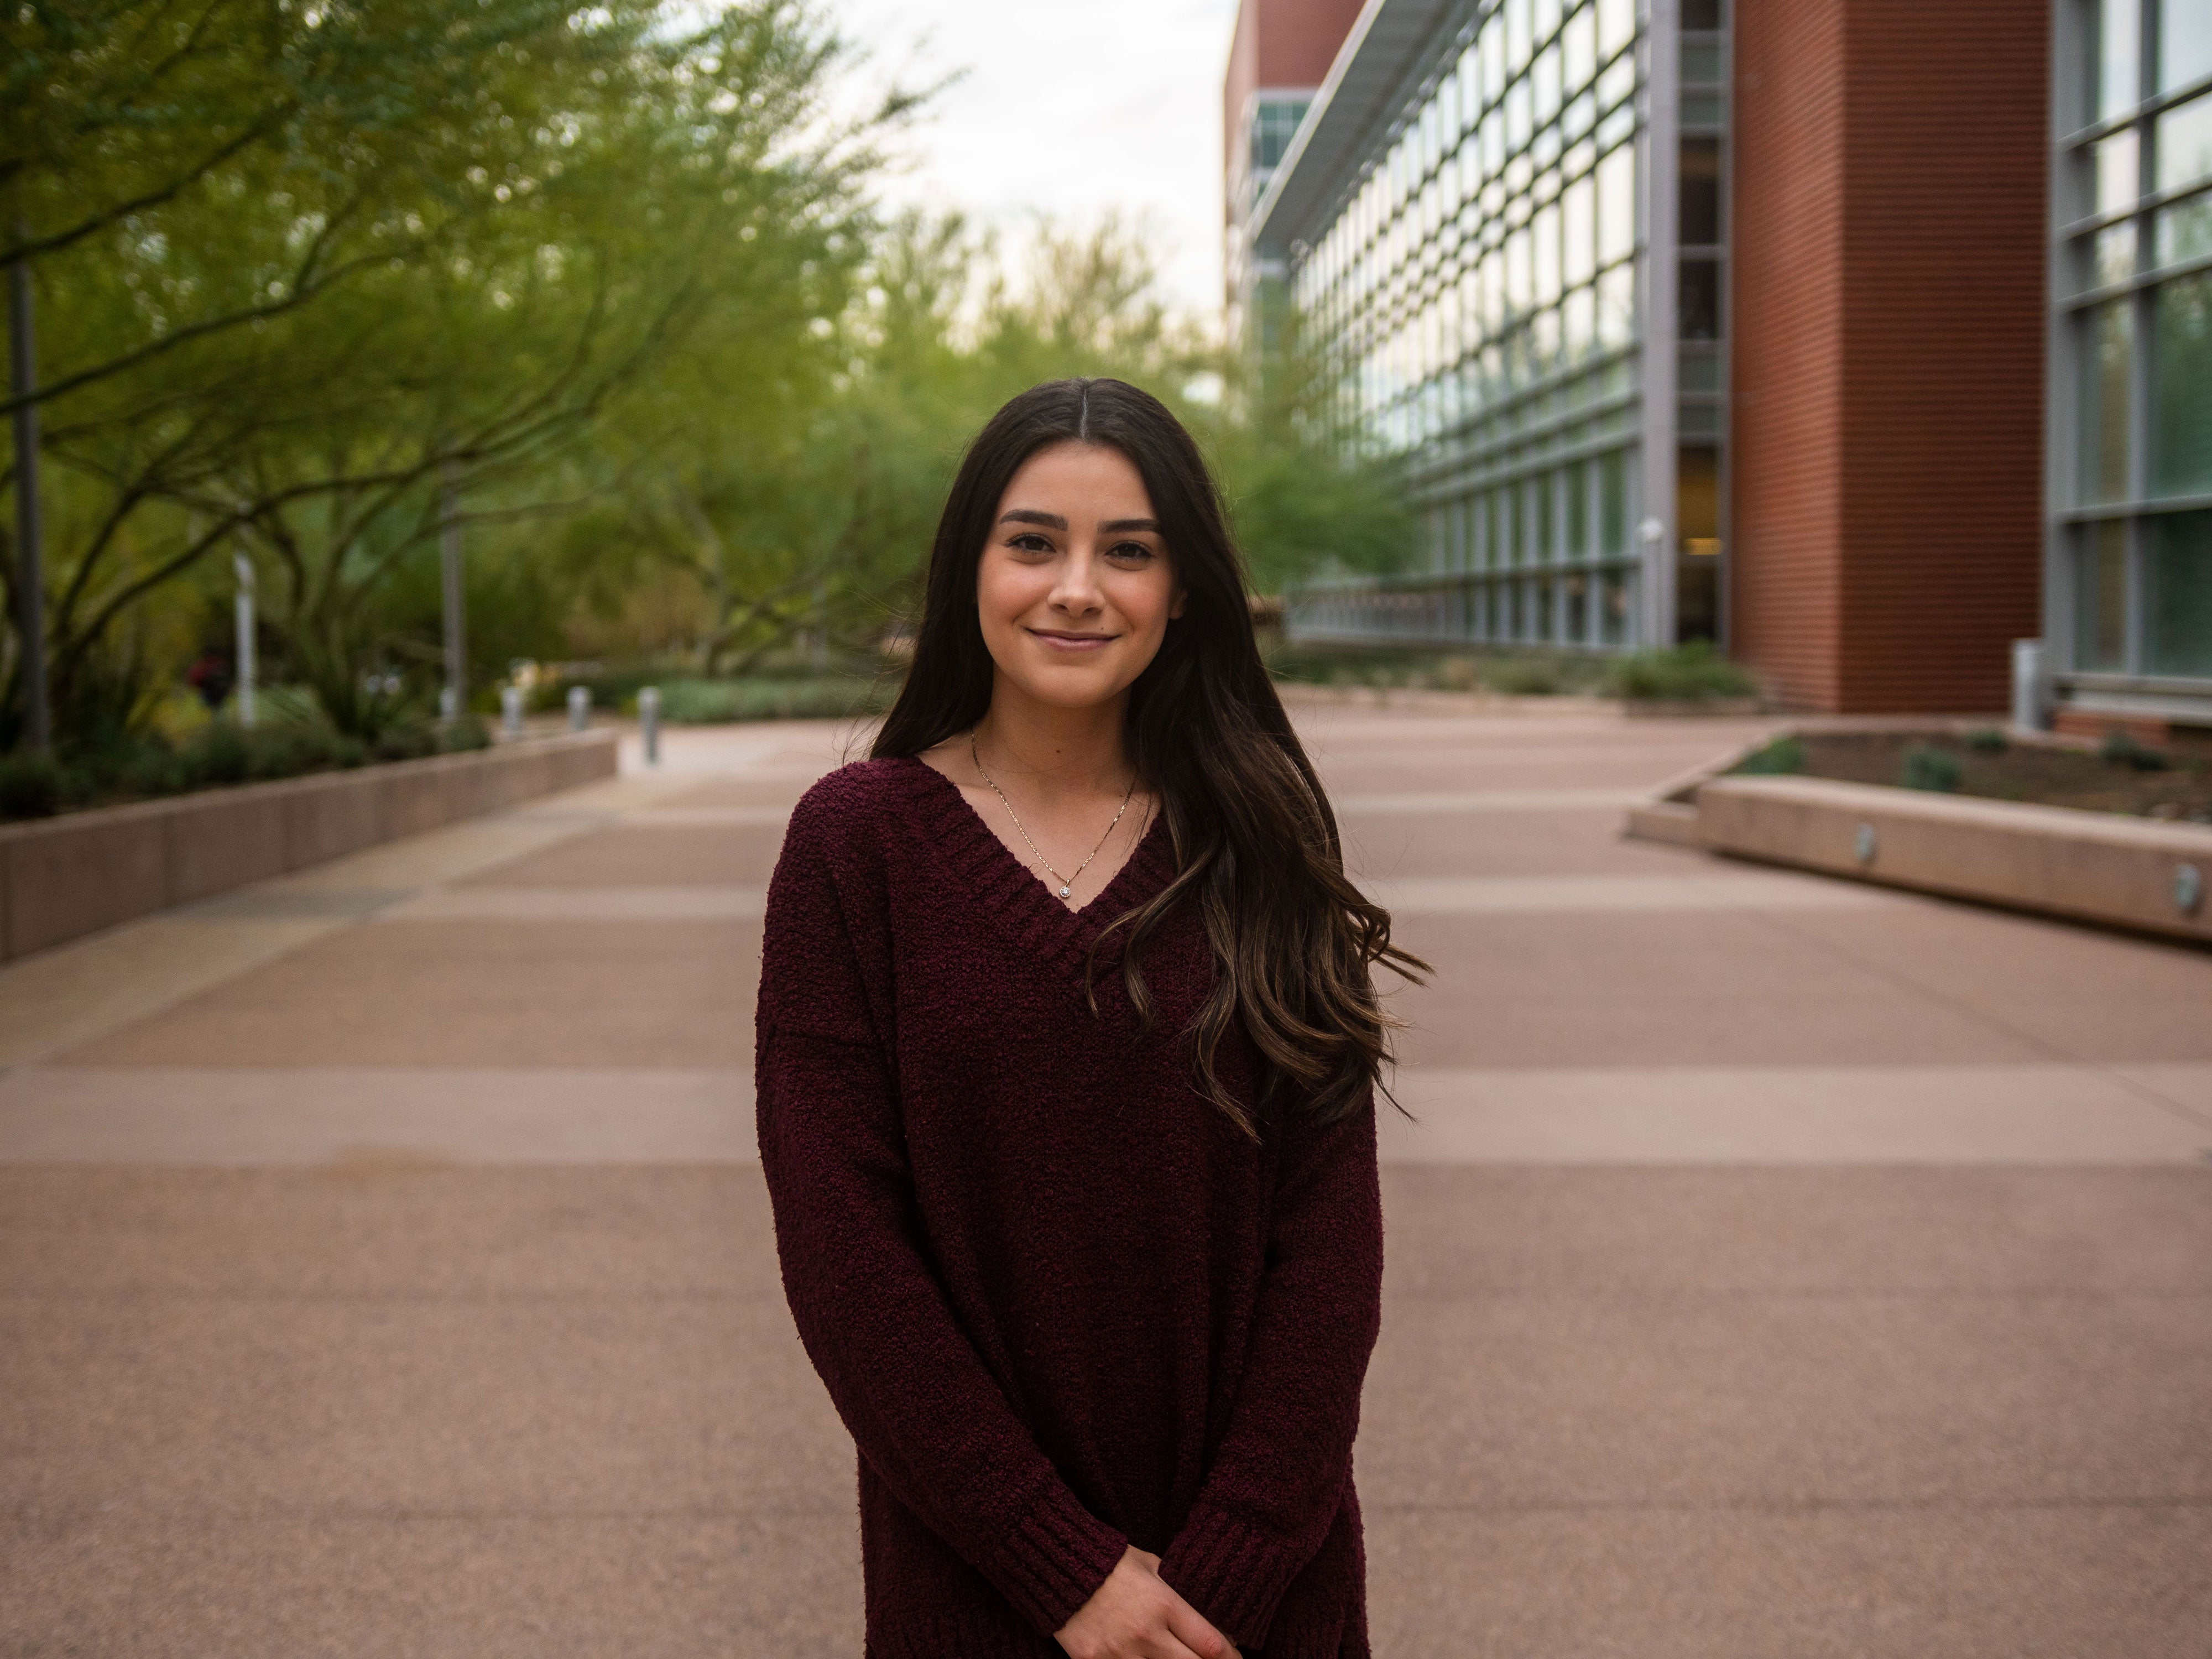
[[[869,1467],[1051,1637],[1128,1540],[1037,1449],[931,1267],[852,931],[801,830],[770,885],[754,1053],[792,1318]]]

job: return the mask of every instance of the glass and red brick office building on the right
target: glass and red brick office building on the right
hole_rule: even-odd
[[[2174,422],[2208,385],[2208,7],[2110,0],[2135,77],[2097,71],[2084,126],[2068,75],[2119,24],[2057,2],[1371,0],[1245,241],[1343,429],[1405,465],[1425,544],[1294,595],[1294,630],[1714,639],[1787,703],[1854,712],[2002,710],[2011,644],[2048,633],[2059,697],[2185,699],[2203,566],[2161,456],[2205,442]],[[2132,195],[2077,204],[2121,148]],[[2139,270],[2084,288],[2124,237]],[[2135,376],[2101,394],[2132,422],[2126,493],[2095,502],[2068,471],[2104,407],[2068,367],[2084,314]]]

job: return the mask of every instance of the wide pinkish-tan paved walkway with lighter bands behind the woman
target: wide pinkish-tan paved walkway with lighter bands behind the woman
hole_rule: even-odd
[[[1617,838],[1747,723],[1301,726],[1440,971],[1376,1652],[2212,1652],[2212,956]],[[858,1652],[750,1164],[847,737],[0,969],[0,1655]]]

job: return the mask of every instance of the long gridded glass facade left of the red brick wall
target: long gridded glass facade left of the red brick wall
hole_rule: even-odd
[[[1294,250],[1292,299],[1343,387],[1340,418],[1409,458],[1431,568],[1453,577],[1391,584],[1396,602],[1360,606],[1360,633],[1635,644],[1637,13],[1458,9],[1365,177]],[[1717,139],[1699,164],[1717,243]],[[1717,270],[1692,288],[1683,321],[1705,305],[1717,343]],[[1714,425],[1708,473],[1717,440]]]

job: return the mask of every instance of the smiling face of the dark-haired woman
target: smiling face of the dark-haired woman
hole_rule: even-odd
[[[1183,588],[1128,456],[1057,442],[1022,462],[975,566],[975,611],[1002,679],[1040,703],[1091,708],[1130,688],[1183,615]]]

